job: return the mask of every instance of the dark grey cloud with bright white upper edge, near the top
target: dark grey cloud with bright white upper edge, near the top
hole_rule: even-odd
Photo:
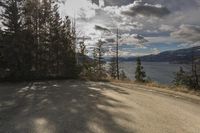
[[[141,0],[134,1],[133,4],[129,5],[129,9],[121,12],[123,15],[126,16],[136,16],[138,14],[144,16],[155,16],[155,17],[163,17],[170,14],[168,8],[156,4],[148,4],[144,3]]]

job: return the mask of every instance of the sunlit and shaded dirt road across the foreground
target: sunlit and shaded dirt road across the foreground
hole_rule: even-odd
[[[137,85],[4,83],[0,133],[200,133],[200,100]]]

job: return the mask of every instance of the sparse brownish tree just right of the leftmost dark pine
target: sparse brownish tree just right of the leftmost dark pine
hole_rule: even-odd
[[[27,40],[31,44],[32,67],[31,74],[38,78],[42,75],[40,70],[40,55],[41,55],[41,17],[42,8],[40,0],[26,0],[24,4],[24,28],[29,35]],[[33,77],[32,77],[33,78]]]

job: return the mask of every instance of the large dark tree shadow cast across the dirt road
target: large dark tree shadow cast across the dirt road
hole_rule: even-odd
[[[104,94],[105,90],[111,90],[120,95],[129,95],[125,90],[82,81],[1,86],[0,132],[134,132],[117,121],[133,122],[126,114],[109,111],[129,107]]]

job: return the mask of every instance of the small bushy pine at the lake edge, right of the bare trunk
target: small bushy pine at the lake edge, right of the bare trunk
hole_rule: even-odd
[[[140,58],[137,58],[137,67],[135,71],[135,79],[138,82],[145,82],[146,73],[143,70]]]

